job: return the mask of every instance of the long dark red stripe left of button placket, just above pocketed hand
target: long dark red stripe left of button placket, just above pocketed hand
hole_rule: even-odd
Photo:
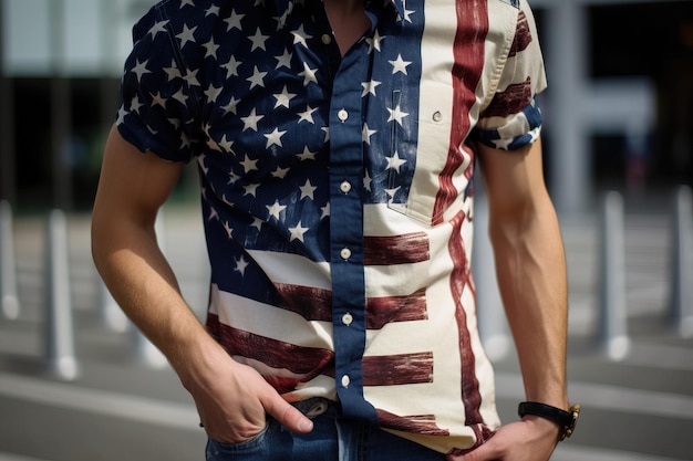
[[[207,329],[229,355],[262,362],[271,368],[285,368],[309,380],[331,365],[334,353],[317,347],[302,347],[237,329],[219,322],[215,314],[207,315]]]

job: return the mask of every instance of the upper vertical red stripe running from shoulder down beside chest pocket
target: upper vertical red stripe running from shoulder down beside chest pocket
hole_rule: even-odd
[[[447,163],[438,177],[439,189],[433,209],[433,224],[443,222],[443,212],[457,197],[453,175],[464,163],[465,156],[462,151],[462,144],[469,130],[469,109],[476,101],[474,92],[484,69],[484,48],[488,33],[487,0],[456,1],[455,4],[457,33],[453,45],[455,57],[453,64],[453,123]],[[470,149],[467,154],[473,155]]]

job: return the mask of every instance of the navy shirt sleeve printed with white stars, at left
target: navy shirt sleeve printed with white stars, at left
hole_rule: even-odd
[[[189,72],[180,71],[172,19],[155,7],[133,28],[125,61],[116,126],[139,150],[170,161],[189,161],[196,144]]]

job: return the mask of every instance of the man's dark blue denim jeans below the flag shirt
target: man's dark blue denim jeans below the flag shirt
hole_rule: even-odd
[[[296,404],[313,430],[296,434],[268,418],[241,443],[207,442],[207,461],[445,461],[445,455],[368,423],[339,418],[337,405],[316,398]]]

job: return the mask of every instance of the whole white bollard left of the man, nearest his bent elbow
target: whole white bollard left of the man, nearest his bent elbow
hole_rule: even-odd
[[[61,210],[51,211],[46,231],[45,360],[50,375],[73,380],[79,366],[74,355],[68,222]]]

